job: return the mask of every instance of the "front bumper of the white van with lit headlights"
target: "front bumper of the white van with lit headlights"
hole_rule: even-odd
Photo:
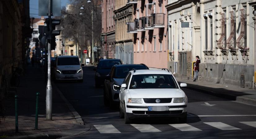
[[[55,72],[56,80],[82,80],[83,72],[79,72],[76,74],[59,74]]]

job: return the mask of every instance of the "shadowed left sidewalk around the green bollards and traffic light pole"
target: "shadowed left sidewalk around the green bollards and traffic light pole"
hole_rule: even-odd
[[[35,127],[35,93],[39,92],[38,130]],[[4,102],[5,120],[1,119],[0,138],[58,138],[86,132],[81,117],[52,82],[52,121],[45,120],[46,83],[42,68],[27,67],[17,87],[19,133],[15,133],[14,97]]]

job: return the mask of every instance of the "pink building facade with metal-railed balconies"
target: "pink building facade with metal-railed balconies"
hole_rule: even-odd
[[[134,64],[168,68],[167,0],[134,2],[133,22],[128,22],[128,33],[133,33]]]

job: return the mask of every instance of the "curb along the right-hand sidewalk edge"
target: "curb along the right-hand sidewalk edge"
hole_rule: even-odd
[[[178,83],[180,84],[181,82],[178,82]],[[194,84],[190,84],[190,83],[186,83],[186,84],[187,84],[187,87],[185,87],[185,88],[190,89],[190,90],[198,91],[201,93],[213,95],[213,96],[224,98],[224,99],[229,99],[232,101],[246,103],[249,105],[256,105],[256,99],[247,98],[247,97],[243,97],[243,96],[235,96],[235,95],[231,95],[231,94],[218,93],[215,91],[210,91],[208,89],[200,88],[198,85],[194,85]]]

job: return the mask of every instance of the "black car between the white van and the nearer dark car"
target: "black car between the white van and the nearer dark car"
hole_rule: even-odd
[[[95,87],[103,85],[105,77],[109,74],[113,65],[122,65],[123,62],[120,59],[102,59],[97,65],[95,72]]]

